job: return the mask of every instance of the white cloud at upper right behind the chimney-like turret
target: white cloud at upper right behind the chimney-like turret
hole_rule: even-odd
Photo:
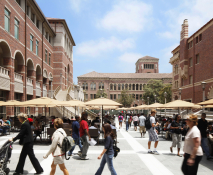
[[[165,12],[168,19],[167,31],[157,35],[167,39],[179,39],[184,19],[188,19],[189,36],[192,35],[212,18],[212,7],[212,0],[181,1],[179,6]]]

